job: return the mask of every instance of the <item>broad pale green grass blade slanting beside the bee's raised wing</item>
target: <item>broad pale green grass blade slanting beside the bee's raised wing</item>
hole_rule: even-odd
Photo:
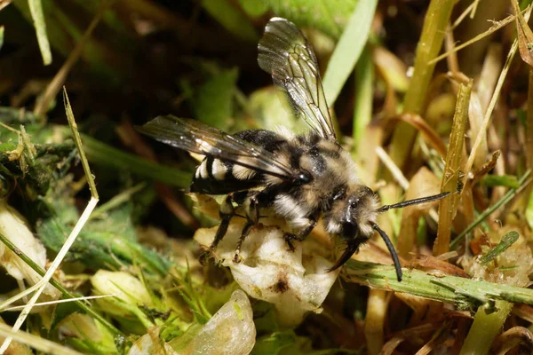
[[[355,6],[346,29],[331,55],[323,81],[326,101],[330,106],[333,106],[348,76],[354,71],[355,63],[367,43],[377,5],[378,0],[365,0]]]

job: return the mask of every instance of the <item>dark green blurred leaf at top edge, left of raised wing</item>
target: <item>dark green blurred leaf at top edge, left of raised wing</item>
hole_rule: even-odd
[[[251,21],[227,0],[203,0],[206,12],[235,36],[249,42],[258,42],[259,36]]]

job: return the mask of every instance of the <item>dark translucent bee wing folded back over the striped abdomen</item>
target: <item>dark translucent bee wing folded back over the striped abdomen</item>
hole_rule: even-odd
[[[170,146],[234,162],[282,180],[297,176],[290,166],[276,161],[273,153],[202,122],[166,115],[155,117],[137,130]]]

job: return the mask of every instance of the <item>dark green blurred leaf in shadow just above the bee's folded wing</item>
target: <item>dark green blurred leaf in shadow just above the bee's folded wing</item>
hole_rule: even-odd
[[[195,117],[211,126],[227,130],[228,118],[233,116],[233,99],[237,68],[213,75],[193,98]]]

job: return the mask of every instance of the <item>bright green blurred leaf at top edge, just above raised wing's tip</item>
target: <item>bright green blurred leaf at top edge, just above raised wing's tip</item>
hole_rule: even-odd
[[[361,3],[374,2],[364,0]],[[298,25],[320,29],[323,33],[338,38],[354,11],[356,0],[268,0],[277,16],[285,17]]]

